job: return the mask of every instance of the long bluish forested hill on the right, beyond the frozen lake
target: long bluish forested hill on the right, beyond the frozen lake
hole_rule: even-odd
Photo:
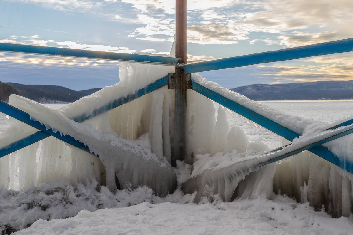
[[[353,99],[353,81],[253,84],[231,90],[252,100]]]

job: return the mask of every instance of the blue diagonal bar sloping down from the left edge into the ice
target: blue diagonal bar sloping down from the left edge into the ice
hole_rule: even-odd
[[[89,148],[84,143],[75,140],[72,136],[60,135],[59,131],[54,133],[54,131],[52,129],[47,130],[44,124],[41,124],[40,122],[37,122],[34,120],[31,120],[28,113],[26,113],[22,110],[19,110],[16,107],[13,107],[9,104],[6,104],[3,101],[0,101],[0,112],[5,113],[6,115],[8,115],[10,117],[16,118],[17,120],[19,120],[23,123],[26,123],[26,124],[36,128],[38,130],[41,130],[48,135],[54,136],[55,138],[58,138],[61,141],[64,141],[68,144],[71,144],[72,146],[75,146],[75,147],[82,149],[84,151],[87,151],[89,153],[91,152],[89,150]],[[27,137],[27,138],[24,138],[20,141],[17,141],[17,143],[20,144],[20,146],[24,146],[25,144],[31,144],[33,141],[37,142],[40,140],[40,138],[42,138],[44,136],[44,134],[42,134],[42,133],[41,134],[37,134],[37,133],[35,133],[34,135],[31,135],[30,138]],[[12,146],[12,148],[14,148],[14,146]],[[18,147],[16,147],[16,148],[18,148]],[[7,151],[10,151],[9,148],[7,148],[7,149],[8,149]],[[13,150],[13,149],[11,149],[11,150]]]

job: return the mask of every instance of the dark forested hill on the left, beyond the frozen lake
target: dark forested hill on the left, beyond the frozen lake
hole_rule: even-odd
[[[71,103],[81,97],[90,95],[101,88],[93,88],[83,91],[74,91],[62,86],[52,85],[23,85],[8,82],[7,85],[12,86],[18,91],[18,94],[39,103]]]

